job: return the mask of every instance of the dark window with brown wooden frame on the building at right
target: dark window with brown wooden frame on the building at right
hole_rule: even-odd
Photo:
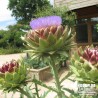
[[[76,20],[76,42],[98,45],[98,17]]]

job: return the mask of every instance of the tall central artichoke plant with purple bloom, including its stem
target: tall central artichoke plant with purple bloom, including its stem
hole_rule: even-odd
[[[74,43],[75,34],[71,31],[71,28],[62,26],[61,24],[62,19],[59,16],[41,17],[30,22],[32,30],[22,37],[32,57],[42,58],[42,60],[49,59],[56,90],[51,87],[45,87],[55,91],[58,98],[62,98],[65,94],[61,87],[64,79],[60,82],[56,61],[61,56],[68,57],[69,51],[76,45]],[[39,81],[35,80],[35,82],[41,85]]]

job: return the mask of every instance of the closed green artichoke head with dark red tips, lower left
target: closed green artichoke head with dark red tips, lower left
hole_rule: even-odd
[[[3,64],[0,68],[0,88],[13,91],[25,85],[27,75],[26,66],[20,65],[16,60]]]

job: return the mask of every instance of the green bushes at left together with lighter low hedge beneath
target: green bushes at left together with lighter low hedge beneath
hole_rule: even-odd
[[[20,53],[25,47],[21,36],[25,34],[20,30],[21,25],[9,26],[8,30],[0,30],[0,54]]]

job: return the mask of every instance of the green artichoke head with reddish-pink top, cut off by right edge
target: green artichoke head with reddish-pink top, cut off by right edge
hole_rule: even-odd
[[[79,48],[71,58],[70,68],[78,81],[98,83],[98,48]]]

